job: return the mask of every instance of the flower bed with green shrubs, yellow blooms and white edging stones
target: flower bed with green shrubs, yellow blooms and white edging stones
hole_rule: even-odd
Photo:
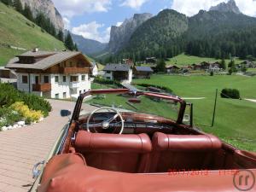
[[[0,90],[0,131],[37,123],[51,111],[44,98],[15,90],[10,84],[0,84]]]

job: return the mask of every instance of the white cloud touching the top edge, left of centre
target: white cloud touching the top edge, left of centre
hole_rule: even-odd
[[[108,12],[112,0],[53,0],[64,17],[71,18],[84,13]]]

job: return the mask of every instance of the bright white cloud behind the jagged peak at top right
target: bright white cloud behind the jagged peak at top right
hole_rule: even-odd
[[[200,9],[208,10],[212,6],[222,2],[227,3],[228,0],[173,0],[172,9],[191,16],[197,14]],[[236,0],[236,5],[243,14],[256,15],[255,0]]]

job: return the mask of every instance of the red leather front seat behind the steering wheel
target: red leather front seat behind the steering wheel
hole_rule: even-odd
[[[116,135],[79,131],[76,152],[88,166],[115,172],[148,172],[151,141],[147,134]]]

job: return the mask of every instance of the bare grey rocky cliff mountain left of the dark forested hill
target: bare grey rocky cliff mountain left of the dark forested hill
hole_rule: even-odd
[[[125,47],[132,33],[137,30],[137,27],[141,26],[143,22],[151,17],[152,15],[147,13],[135,14],[131,19],[126,19],[121,26],[112,26],[108,51],[116,53]]]

